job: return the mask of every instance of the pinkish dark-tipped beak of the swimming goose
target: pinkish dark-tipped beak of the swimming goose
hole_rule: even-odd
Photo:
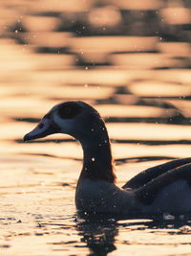
[[[60,132],[60,128],[53,123],[50,117],[44,117],[36,128],[32,129],[31,132],[27,133],[23,140],[29,141],[38,138],[44,138],[47,135]]]

